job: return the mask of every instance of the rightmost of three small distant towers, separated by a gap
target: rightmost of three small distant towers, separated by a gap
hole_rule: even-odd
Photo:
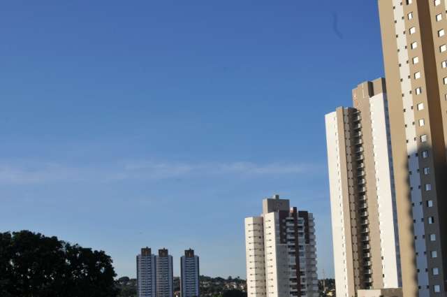
[[[180,259],[180,291],[182,297],[199,297],[199,265],[198,256],[193,249],[186,249]]]

